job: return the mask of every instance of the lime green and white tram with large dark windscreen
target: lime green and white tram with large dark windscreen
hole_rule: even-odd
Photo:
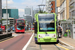
[[[57,42],[56,14],[37,13],[35,14],[35,18],[35,42]]]

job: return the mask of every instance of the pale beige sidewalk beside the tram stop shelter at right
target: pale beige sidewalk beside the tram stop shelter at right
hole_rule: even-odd
[[[62,37],[62,38],[59,38],[59,42],[65,43],[66,45],[69,45],[75,48],[75,39]]]

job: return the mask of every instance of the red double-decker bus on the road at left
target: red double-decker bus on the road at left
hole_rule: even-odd
[[[15,23],[15,32],[25,32],[25,20],[24,19],[16,19]]]

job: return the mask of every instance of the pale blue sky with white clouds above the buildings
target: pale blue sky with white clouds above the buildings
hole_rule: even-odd
[[[43,0],[45,4],[46,0]],[[37,5],[42,3],[42,0],[7,0],[8,7],[17,8],[19,11],[19,16],[22,17],[24,15],[25,7],[33,7],[34,9],[38,8]],[[6,7],[6,0],[2,0],[2,8]]]

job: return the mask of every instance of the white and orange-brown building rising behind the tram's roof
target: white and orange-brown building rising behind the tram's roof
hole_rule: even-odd
[[[46,1],[46,12],[53,13],[55,12],[55,0]]]

